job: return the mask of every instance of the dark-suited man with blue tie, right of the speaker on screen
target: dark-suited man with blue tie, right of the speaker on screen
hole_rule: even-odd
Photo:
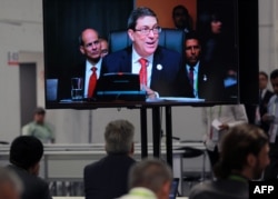
[[[224,72],[216,62],[201,60],[201,46],[197,32],[187,33],[185,40],[185,60],[179,80],[182,84],[189,81],[193,90],[193,97],[206,101],[224,100]]]

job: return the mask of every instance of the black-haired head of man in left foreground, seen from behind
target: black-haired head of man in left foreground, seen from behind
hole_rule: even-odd
[[[11,143],[10,162],[31,175],[38,176],[42,155],[43,146],[38,138],[20,136]]]

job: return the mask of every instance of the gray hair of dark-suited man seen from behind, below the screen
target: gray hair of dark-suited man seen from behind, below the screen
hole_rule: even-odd
[[[129,153],[133,145],[135,127],[127,120],[115,120],[107,125],[105,139],[108,153]]]

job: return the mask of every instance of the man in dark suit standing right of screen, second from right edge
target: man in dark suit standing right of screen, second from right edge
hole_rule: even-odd
[[[259,123],[259,127],[265,130],[267,133],[269,130],[269,123],[261,120],[261,117],[267,113],[267,106],[270,98],[274,96],[274,92],[267,89],[268,84],[268,74],[264,71],[259,72],[259,117],[256,118],[256,123]]]

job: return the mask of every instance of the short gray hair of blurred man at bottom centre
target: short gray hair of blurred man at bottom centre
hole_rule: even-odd
[[[130,169],[129,188],[145,187],[159,192],[162,186],[172,180],[170,167],[159,159],[145,159]]]

